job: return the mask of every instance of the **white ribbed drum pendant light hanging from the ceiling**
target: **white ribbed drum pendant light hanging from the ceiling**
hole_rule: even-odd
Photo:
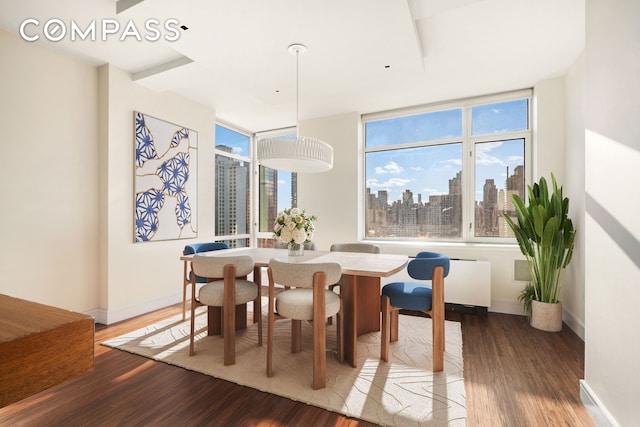
[[[271,169],[316,173],[326,172],[333,167],[333,147],[318,138],[300,136],[298,133],[299,113],[299,57],[307,48],[302,44],[292,44],[289,53],[296,55],[296,138],[271,137],[258,140],[258,162]]]

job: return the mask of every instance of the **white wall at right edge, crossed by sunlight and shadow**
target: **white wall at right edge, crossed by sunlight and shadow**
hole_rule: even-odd
[[[582,391],[606,408],[600,425],[632,426],[640,419],[640,2],[586,4]]]

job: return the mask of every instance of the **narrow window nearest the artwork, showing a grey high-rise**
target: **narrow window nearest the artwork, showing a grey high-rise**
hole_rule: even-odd
[[[251,137],[216,125],[216,238],[247,247],[251,233]]]

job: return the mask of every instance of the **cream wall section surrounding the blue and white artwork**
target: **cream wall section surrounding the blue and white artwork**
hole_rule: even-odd
[[[100,214],[108,245],[101,254],[99,317],[112,323],[181,301],[182,249],[213,236],[215,111],[173,93],[146,89],[110,65],[102,66],[99,76],[101,93],[108,97],[101,105],[106,134],[100,176],[106,184]],[[198,239],[133,243],[134,111],[198,133]]]

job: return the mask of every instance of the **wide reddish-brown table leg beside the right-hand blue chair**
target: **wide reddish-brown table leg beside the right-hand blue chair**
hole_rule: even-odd
[[[380,278],[345,274],[342,280],[344,358],[355,368],[358,336],[380,330]]]

